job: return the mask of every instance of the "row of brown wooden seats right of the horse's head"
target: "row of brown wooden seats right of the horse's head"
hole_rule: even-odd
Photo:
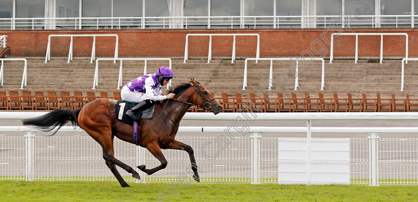
[[[292,92],[292,97],[283,97],[282,93],[277,93],[277,97],[261,96],[255,97],[250,93],[249,97],[228,97],[227,93],[222,92],[221,98],[216,98],[223,107],[223,112],[247,111],[238,106],[237,100],[249,99],[256,109],[251,108],[251,103],[247,106],[254,112],[418,112],[418,99],[410,99],[408,93],[406,98],[382,99],[379,93],[376,98],[367,97],[362,93],[362,98],[352,98],[351,93],[347,93],[347,98],[341,98],[338,93],[333,93],[333,97],[325,97],[318,93],[318,98],[314,95],[305,93],[304,97],[297,97]]]

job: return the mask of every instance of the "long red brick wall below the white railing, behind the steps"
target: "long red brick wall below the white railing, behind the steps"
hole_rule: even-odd
[[[318,39],[329,56],[330,46],[319,36],[324,29],[229,29],[229,30],[46,30],[46,31],[1,31],[7,35],[7,46],[13,57],[44,57],[50,34],[118,34],[119,57],[183,57],[188,33],[258,33],[260,34],[260,57],[298,57],[304,50],[312,50],[311,43]],[[418,30],[400,29],[342,29],[343,33],[354,32],[406,32],[409,34],[409,56],[417,57]],[[330,39],[330,32],[325,34]],[[93,37],[75,37],[74,57],[90,57]],[[114,37],[96,39],[96,56],[112,57]],[[384,36],[384,57],[404,57],[405,37]],[[70,38],[53,37],[51,57],[67,57]],[[208,36],[189,37],[189,58],[207,57]],[[316,44],[319,50],[319,45]],[[334,38],[334,57],[354,57],[355,36]],[[325,49],[323,49],[325,50]],[[230,57],[232,36],[212,37],[212,57]],[[236,57],[255,57],[256,37],[236,37]],[[320,56],[321,54],[315,54]],[[359,57],[380,56],[380,36],[359,36]]]

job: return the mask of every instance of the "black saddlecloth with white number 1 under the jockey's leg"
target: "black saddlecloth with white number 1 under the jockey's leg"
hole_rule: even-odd
[[[136,103],[135,103],[136,104]],[[142,111],[142,116],[141,119],[152,119],[154,118],[154,111],[155,111],[155,105],[156,102],[154,102],[154,104],[151,105],[151,107],[144,109]],[[129,124],[130,126],[133,126],[133,120],[126,116],[125,113],[126,111],[128,111],[130,108],[133,107],[133,103],[132,102],[127,102],[127,101],[117,101],[116,102],[116,119],[121,121],[122,123],[125,124]]]

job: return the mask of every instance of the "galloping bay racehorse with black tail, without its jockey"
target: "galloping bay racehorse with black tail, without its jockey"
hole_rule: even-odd
[[[167,166],[167,160],[161,149],[181,149],[189,153],[194,172],[193,178],[200,182],[192,147],[175,140],[175,137],[181,119],[191,106],[202,107],[213,112],[213,114],[221,112],[222,106],[219,105],[205,86],[193,78],[189,82],[180,83],[172,92],[176,95],[173,100],[168,99],[156,104],[155,115],[161,117],[154,116],[152,119],[142,119],[138,124],[137,144],[147,148],[161,164],[151,169],[147,169],[145,165],[137,167],[151,175]],[[79,109],[55,109],[43,116],[25,119],[22,122],[23,125],[34,126],[41,131],[52,131],[58,127],[52,135],[67,123],[80,126],[102,146],[105,163],[120,186],[129,187],[116,170],[116,165],[131,173],[134,178],[140,179],[140,176],[130,166],[114,157],[113,139],[116,136],[133,144],[135,144],[135,139],[132,135],[133,127],[117,120],[116,102],[117,100],[106,98],[97,99]]]

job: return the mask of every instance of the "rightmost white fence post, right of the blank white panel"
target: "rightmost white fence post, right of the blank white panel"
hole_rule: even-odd
[[[377,133],[370,133],[369,138],[370,147],[370,186],[379,186],[379,166],[378,166],[378,141],[379,136]]]

